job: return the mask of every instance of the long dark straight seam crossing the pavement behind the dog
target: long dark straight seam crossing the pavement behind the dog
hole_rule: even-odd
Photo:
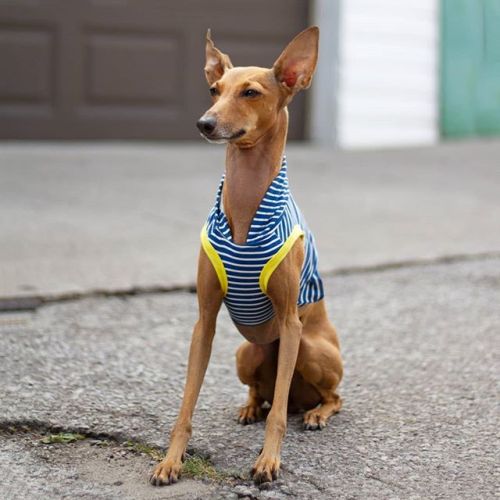
[[[352,276],[359,274],[372,274],[396,269],[409,269],[415,267],[429,267],[442,264],[456,264],[461,262],[473,262],[482,260],[500,259],[500,251],[480,252],[474,254],[443,255],[432,258],[408,259],[396,262],[387,262],[366,266],[341,267],[331,271],[321,271],[325,277]],[[196,293],[194,284],[176,286],[151,286],[131,287],[117,290],[89,290],[86,292],[69,292],[47,295],[23,295],[12,297],[0,297],[0,314],[5,312],[34,311],[44,305],[70,302],[88,298],[127,298],[142,295],[171,294],[171,293]]]

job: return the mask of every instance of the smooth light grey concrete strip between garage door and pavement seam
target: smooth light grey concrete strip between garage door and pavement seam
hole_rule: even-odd
[[[338,152],[290,145],[323,271],[500,250],[500,141]],[[194,282],[224,148],[0,145],[0,297]]]

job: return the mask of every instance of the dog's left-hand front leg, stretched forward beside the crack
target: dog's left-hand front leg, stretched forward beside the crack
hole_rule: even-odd
[[[189,349],[186,385],[182,405],[170,436],[170,447],[165,458],[151,475],[155,486],[175,483],[179,478],[182,458],[191,437],[191,420],[200,393],[205,371],[210,360],[215,335],[217,313],[222,303],[222,291],[213,267],[203,250],[198,265],[199,319],[194,327]]]

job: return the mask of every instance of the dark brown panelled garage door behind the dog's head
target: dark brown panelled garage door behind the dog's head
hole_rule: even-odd
[[[0,137],[196,139],[207,28],[235,65],[268,66],[307,18],[306,0],[1,2]]]

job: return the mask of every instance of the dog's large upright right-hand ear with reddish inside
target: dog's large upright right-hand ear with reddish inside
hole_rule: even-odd
[[[299,33],[273,66],[276,79],[291,95],[311,85],[318,61],[319,28],[311,26]]]

